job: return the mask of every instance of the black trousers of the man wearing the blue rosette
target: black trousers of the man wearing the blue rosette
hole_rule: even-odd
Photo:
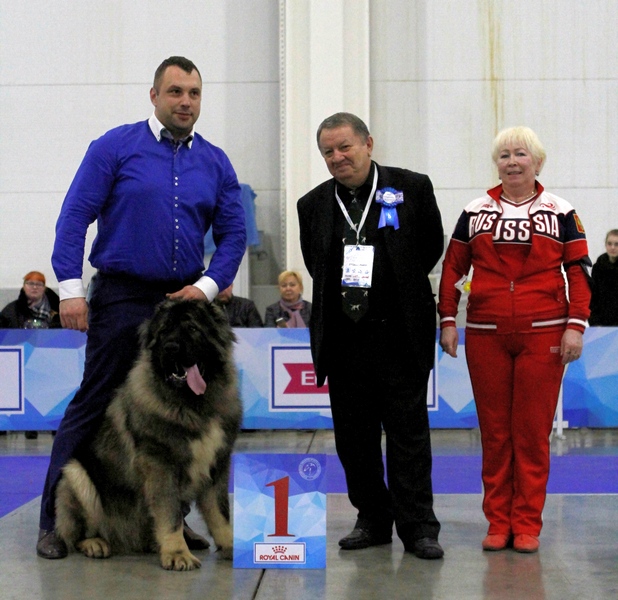
[[[390,531],[404,543],[437,538],[433,511],[429,373],[420,370],[401,323],[344,325],[328,372],[335,444],[357,526]],[[386,476],[382,458],[386,434]]]

